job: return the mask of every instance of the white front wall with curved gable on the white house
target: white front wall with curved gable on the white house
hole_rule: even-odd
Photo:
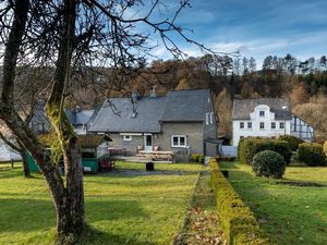
[[[264,115],[261,115],[264,113]],[[271,128],[271,123],[275,122],[276,128]],[[244,127],[241,128],[241,123]],[[247,123],[252,123],[249,127]],[[261,123],[264,123],[264,128],[261,128]],[[286,128],[280,128],[280,123],[284,123]],[[277,137],[283,134],[291,134],[291,120],[275,120],[275,113],[270,112],[270,108],[266,105],[258,105],[254,111],[250,113],[250,120],[233,120],[233,146],[239,145],[241,137]]]

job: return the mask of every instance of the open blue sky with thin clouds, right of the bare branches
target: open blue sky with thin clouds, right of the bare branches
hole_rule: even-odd
[[[168,7],[173,7],[169,0]],[[299,60],[327,54],[326,0],[191,0],[178,24],[192,39],[218,52],[240,51],[253,57],[259,69],[265,57],[291,53]],[[202,56],[177,38],[190,56]],[[164,47],[155,50],[162,59]]]

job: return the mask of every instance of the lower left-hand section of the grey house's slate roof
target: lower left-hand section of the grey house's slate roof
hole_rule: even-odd
[[[166,97],[142,97],[136,103],[131,98],[112,98],[105,101],[89,132],[156,133],[160,132]],[[111,105],[111,106],[110,106]],[[136,111],[133,117],[133,111]]]

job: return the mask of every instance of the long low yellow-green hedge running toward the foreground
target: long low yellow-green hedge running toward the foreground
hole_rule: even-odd
[[[242,198],[234,192],[219,170],[216,159],[210,159],[211,186],[216,193],[220,224],[229,245],[272,245]]]

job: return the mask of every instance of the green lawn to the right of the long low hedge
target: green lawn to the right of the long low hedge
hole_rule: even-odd
[[[290,166],[279,181],[256,177],[244,164],[221,167],[229,170],[228,180],[276,243],[327,244],[327,168]]]

